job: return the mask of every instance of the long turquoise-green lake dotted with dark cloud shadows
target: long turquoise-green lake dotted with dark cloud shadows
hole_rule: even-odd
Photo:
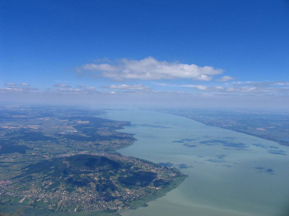
[[[138,140],[118,152],[171,164],[189,176],[149,206],[121,215],[289,215],[289,147],[154,111],[102,117],[132,124],[119,131]]]

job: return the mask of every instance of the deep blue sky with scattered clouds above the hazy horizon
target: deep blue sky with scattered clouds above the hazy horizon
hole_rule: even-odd
[[[289,107],[288,1],[0,7],[1,103]]]

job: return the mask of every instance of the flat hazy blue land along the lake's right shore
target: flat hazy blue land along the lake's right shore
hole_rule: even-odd
[[[208,126],[235,130],[289,146],[288,113],[200,109],[157,109],[156,111],[184,116]]]

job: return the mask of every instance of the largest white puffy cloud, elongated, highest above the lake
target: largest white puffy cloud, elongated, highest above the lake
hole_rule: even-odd
[[[86,64],[78,68],[81,71],[93,71],[97,76],[111,77],[116,80],[123,79],[179,79],[189,78],[208,81],[212,75],[223,73],[222,69],[215,69],[211,66],[200,67],[198,65],[180,64],[177,62],[158,61],[153,57],[142,60],[122,59],[118,64]]]

